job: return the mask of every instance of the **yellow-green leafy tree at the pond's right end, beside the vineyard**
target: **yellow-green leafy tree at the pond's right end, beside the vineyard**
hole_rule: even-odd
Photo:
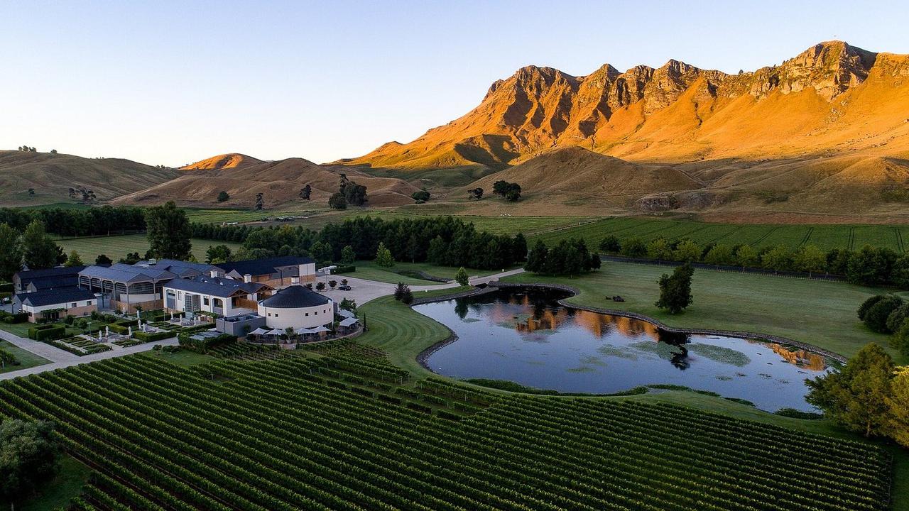
[[[894,361],[871,343],[849,359],[839,372],[805,380],[805,401],[834,421],[864,436],[885,434]]]

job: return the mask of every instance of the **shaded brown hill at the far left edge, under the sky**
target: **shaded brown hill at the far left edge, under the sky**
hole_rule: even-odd
[[[0,151],[0,203],[42,205],[75,199],[70,188],[95,192],[98,201],[173,179],[177,171],[122,158]],[[35,194],[30,195],[29,188]],[[80,195],[81,196],[81,195]]]

